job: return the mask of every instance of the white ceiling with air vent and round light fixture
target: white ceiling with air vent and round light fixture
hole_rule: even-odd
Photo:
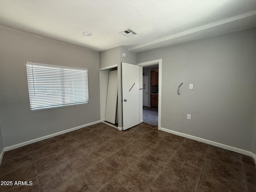
[[[96,51],[141,52],[256,26],[256,0],[0,0],[0,25]],[[119,34],[126,28],[138,35]]]

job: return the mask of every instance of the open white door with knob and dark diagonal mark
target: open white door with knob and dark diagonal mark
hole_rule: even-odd
[[[140,124],[140,67],[122,62],[123,130]]]

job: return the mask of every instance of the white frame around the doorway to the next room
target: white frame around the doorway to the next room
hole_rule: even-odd
[[[140,88],[142,88],[142,67],[158,64],[158,130],[161,129],[161,100],[162,100],[162,58],[152,61],[137,63],[140,66]],[[142,121],[142,90],[140,91],[140,121]]]

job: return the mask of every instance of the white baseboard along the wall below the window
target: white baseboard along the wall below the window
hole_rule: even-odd
[[[87,127],[87,126],[90,126],[90,125],[97,124],[97,123],[100,123],[100,122],[102,122],[102,121],[98,120],[98,121],[95,121],[95,122],[91,122],[91,123],[88,123],[88,124],[84,124],[84,125],[80,125],[80,126],[77,126],[77,127],[74,127],[74,128],[70,128],[70,129],[67,129],[67,130],[64,130],[64,131],[60,131],[60,132],[57,132],[57,133],[46,135],[46,136],[43,136],[43,137],[40,137],[40,138],[36,138],[36,139],[32,139],[32,140],[29,140],[29,141],[26,141],[26,142],[22,142],[22,143],[19,143],[19,144],[16,144],[16,145],[4,147],[3,151],[9,151],[9,150],[12,150],[12,149],[16,149],[16,148],[19,148],[19,147],[22,147],[22,146],[25,146],[25,145],[28,145],[28,144],[32,144],[32,143],[35,143],[35,142],[38,142],[38,141],[41,141],[41,140],[45,140],[45,139],[48,139],[48,138],[51,138],[51,137],[55,137],[55,136],[58,136],[58,135],[61,135],[61,134],[64,134],[64,133],[68,133],[70,131],[74,131],[74,130],[77,130],[77,129],[80,129],[80,128],[84,128],[84,127]]]

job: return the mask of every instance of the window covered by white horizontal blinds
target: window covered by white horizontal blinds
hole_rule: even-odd
[[[26,62],[30,109],[88,103],[87,69]]]

